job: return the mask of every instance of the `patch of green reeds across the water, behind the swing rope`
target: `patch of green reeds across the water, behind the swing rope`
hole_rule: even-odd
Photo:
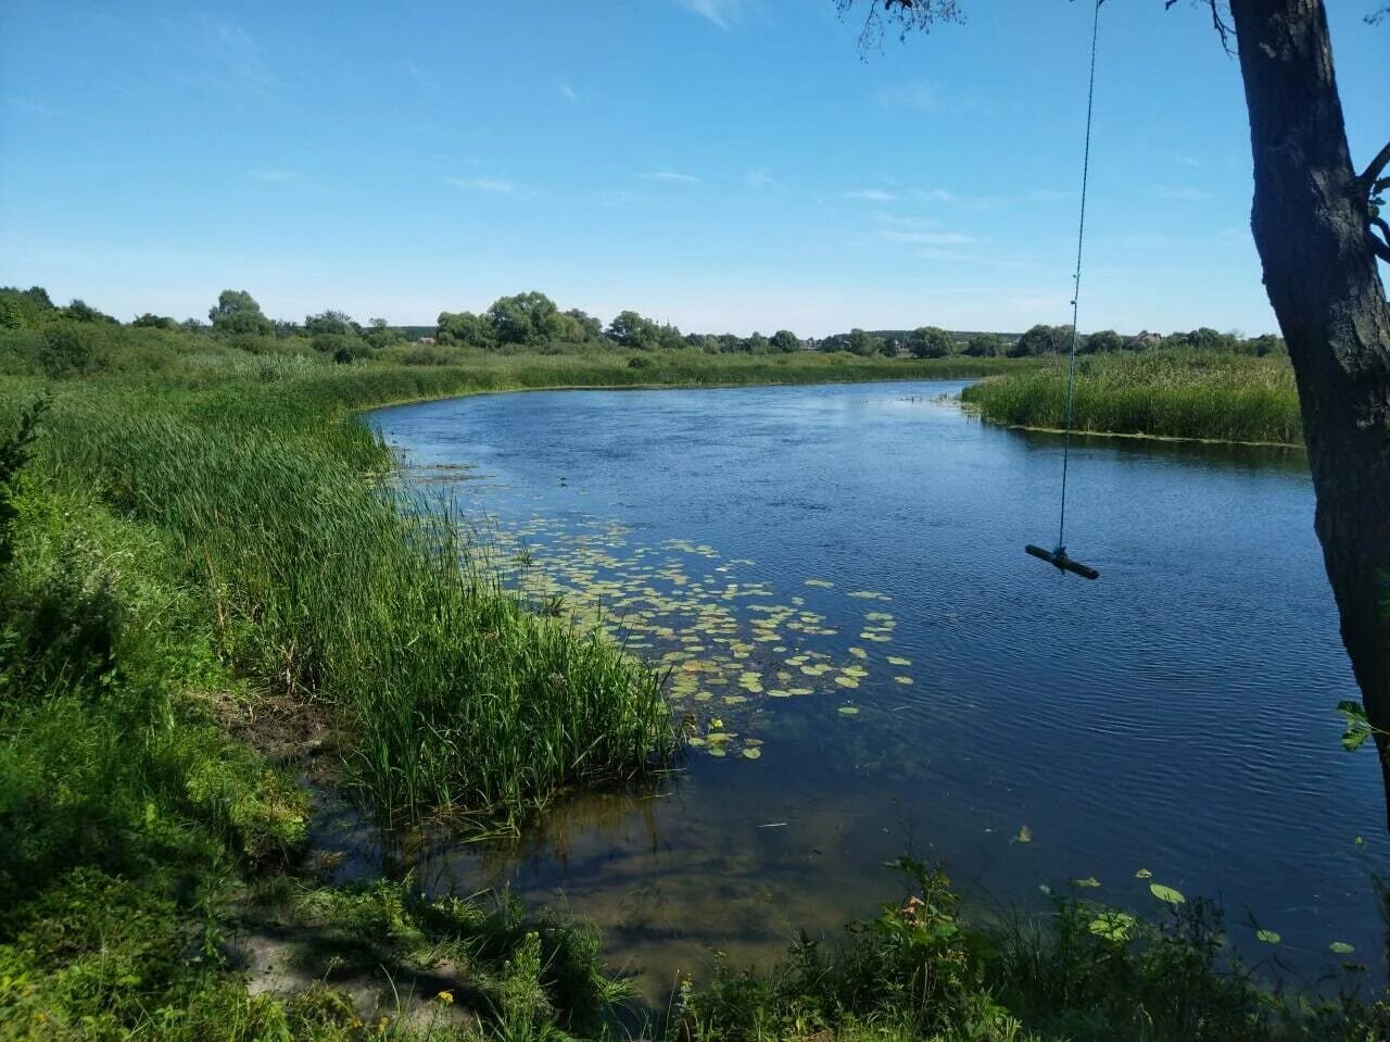
[[[991,423],[1058,430],[1066,420],[1065,362],[987,380],[965,392]],[[1301,445],[1286,358],[1193,351],[1077,360],[1076,430],[1161,438]]]

